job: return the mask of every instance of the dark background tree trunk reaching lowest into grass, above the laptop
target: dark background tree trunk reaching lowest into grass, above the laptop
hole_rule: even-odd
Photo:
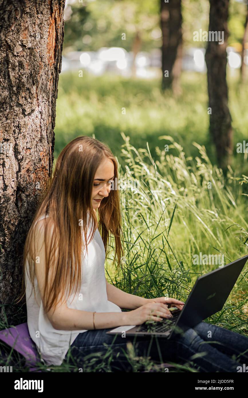
[[[231,115],[228,108],[227,20],[229,0],[210,0],[209,31],[224,32],[223,44],[209,41],[205,54],[210,107],[210,134],[217,154],[217,164],[227,169],[233,151]]]

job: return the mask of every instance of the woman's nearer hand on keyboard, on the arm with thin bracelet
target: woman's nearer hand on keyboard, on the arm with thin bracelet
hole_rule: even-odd
[[[136,310],[126,312],[127,325],[141,325],[146,321],[162,321],[163,318],[170,319],[172,314],[166,304],[149,302]]]

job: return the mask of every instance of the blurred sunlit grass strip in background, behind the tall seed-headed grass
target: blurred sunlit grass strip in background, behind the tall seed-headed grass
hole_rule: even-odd
[[[236,143],[247,139],[248,86],[240,85],[236,76],[228,78],[228,84],[235,155]],[[70,140],[80,135],[94,135],[119,156],[123,143],[120,133],[124,132],[135,148],[145,148],[148,142],[155,157],[156,147],[162,150],[168,143],[160,140],[160,136],[172,136],[184,147],[186,156],[197,155],[192,145],[196,141],[205,145],[211,162],[215,163],[215,150],[209,139],[207,107],[205,74],[184,72],[182,96],[178,98],[174,98],[170,91],[162,94],[159,79],[94,77],[85,72],[80,78],[77,71],[61,74],[56,108],[55,158]],[[242,156],[236,156],[234,161],[240,165]]]

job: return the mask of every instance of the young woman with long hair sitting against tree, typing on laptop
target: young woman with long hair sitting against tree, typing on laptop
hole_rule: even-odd
[[[111,345],[112,371],[130,371],[131,341],[136,355],[154,361],[190,361],[202,372],[236,372],[239,360],[248,363],[248,338],[206,322],[174,340],[106,334],[117,326],[160,322],[171,317],[170,306],[182,310],[184,305],[175,298],[131,295],[107,283],[109,234],[118,266],[123,256],[119,192],[111,189],[115,178],[117,161],[109,148],[78,137],[59,155],[33,219],[24,248],[23,290],[29,333],[44,363],[61,365],[66,359],[83,367],[87,355]],[[196,353],[202,354],[191,361]]]

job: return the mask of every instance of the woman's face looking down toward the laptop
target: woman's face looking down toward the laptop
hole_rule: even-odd
[[[92,207],[97,209],[104,197],[109,195],[111,189],[111,181],[114,178],[114,164],[110,159],[104,159],[98,169],[93,182],[92,189]]]

